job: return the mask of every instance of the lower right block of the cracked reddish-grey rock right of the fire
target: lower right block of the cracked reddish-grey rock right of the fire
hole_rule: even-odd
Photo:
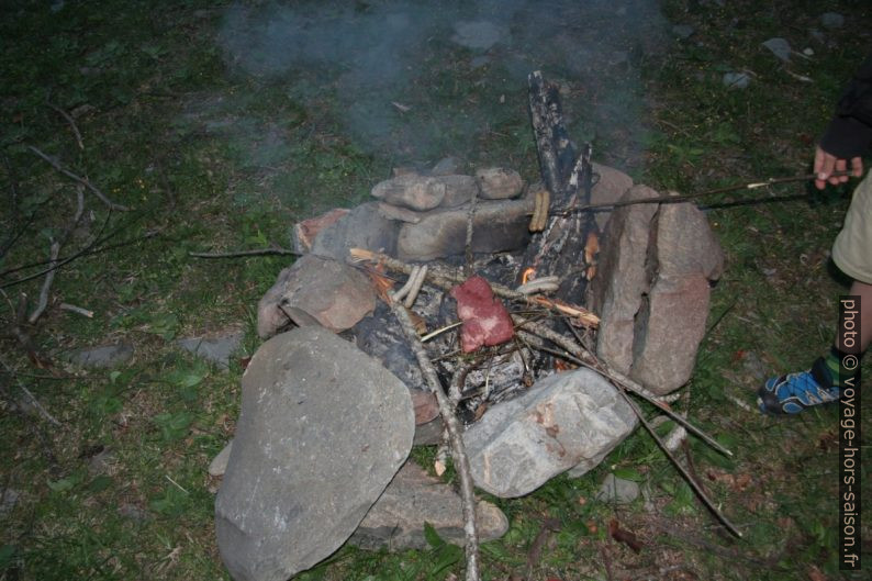
[[[705,335],[709,293],[701,273],[657,278],[639,313],[630,378],[658,395],[687,382]]]

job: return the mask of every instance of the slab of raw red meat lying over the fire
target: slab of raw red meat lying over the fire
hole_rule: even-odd
[[[457,315],[463,322],[460,329],[463,353],[474,351],[482,345],[500,345],[514,335],[508,311],[483,278],[469,278],[451,289],[451,297],[457,300]]]

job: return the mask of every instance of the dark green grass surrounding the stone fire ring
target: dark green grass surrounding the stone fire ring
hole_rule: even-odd
[[[27,146],[57,156],[134,209],[110,213],[88,194],[86,220],[62,254],[94,237],[105,242],[58,272],[52,305],[25,328],[30,353],[11,336],[0,343],[14,370],[0,372],[14,396],[2,400],[0,487],[19,493],[0,514],[0,579],[228,579],[214,541],[217,481],[205,468],[233,435],[242,370],[239,361],[227,372],[204,365],[172,339],[242,325],[242,356],[254,353],[255,304],[287,260],[205,262],[189,250],[287,245],[295,220],[359,203],[391,167],[445,155],[536,179],[523,82],[533,67],[560,83],[572,134],[593,141],[597,160],[658,189],[692,192],[802,174],[872,30],[869,8],[857,1],[668,0],[659,40],[597,12],[591,24],[613,26],[608,38],[600,35],[608,52],[563,58],[558,48],[567,37],[525,36],[521,20],[512,34],[527,44],[498,45],[481,66],[471,65],[479,53],[434,34],[416,45],[423,56],[415,74],[392,86],[392,99],[411,107],[409,114],[371,99],[374,91],[354,94],[365,119],[384,122],[372,133],[348,122],[343,88],[354,68],[347,64],[295,66],[270,77],[235,63],[217,42],[228,7],[110,0],[66,2],[57,12],[46,2],[0,8],[0,195],[7,200],[0,242],[20,235],[0,256],[4,327],[19,293],[32,309],[41,284],[7,286],[38,267],[9,271],[44,260],[49,238],[75,210],[75,185]],[[359,2],[356,10],[366,18],[378,7]],[[845,26],[815,41],[808,29],[821,29],[819,15],[828,10],[845,14]],[[694,33],[674,38],[673,24]],[[582,38],[592,33],[578,23],[570,30]],[[612,46],[612,36],[630,42]],[[760,46],[772,36],[797,51],[812,47],[814,56],[782,64]],[[597,68],[605,62],[613,64]],[[724,87],[727,71],[747,71],[750,86]],[[46,103],[75,118],[83,148]],[[802,191],[802,185],[772,188]],[[584,478],[557,478],[524,499],[493,499],[511,529],[482,548],[485,579],[523,574],[547,518],[560,530],[544,545],[533,579],[861,578],[837,569],[836,410],[783,421],[734,403],[752,403],[762,377],[807,366],[832,339],[836,299],[846,287],[828,269],[827,249],[849,192],[708,213],[727,269],[713,293],[712,328],[689,400],[680,405],[736,452],[727,460],[696,442],[687,450],[746,539],[714,529],[640,432]],[[60,302],[94,316],[60,311]],[[115,340],[135,348],[116,370],[64,362],[74,349]],[[865,376],[872,377],[869,362]],[[21,386],[63,427],[16,410],[11,402]],[[415,452],[422,460],[428,454]],[[611,470],[638,480],[648,501],[594,501]],[[639,536],[641,552],[610,540],[613,518]],[[431,540],[428,550],[399,554],[344,548],[300,579],[460,576],[460,554]]]

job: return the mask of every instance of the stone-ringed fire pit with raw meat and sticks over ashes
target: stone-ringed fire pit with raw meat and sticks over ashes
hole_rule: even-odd
[[[399,518],[377,517],[376,501],[412,432],[416,444],[441,442],[434,389],[467,426],[476,485],[518,496],[567,470],[583,474],[635,428],[622,390],[656,401],[690,378],[723,261],[705,216],[686,203],[583,211],[659,194],[593,164],[590,146],[577,152],[557,90],[538,74],[530,111],[541,183],[506,168],[396,170],[372,202],[294,226],[302,256],[258,305],[258,332],[272,338],[246,371],[216,502],[222,556],[239,578],[288,577],[329,555],[365,515],[361,527]],[[407,325],[391,313],[399,301]],[[362,391],[348,391],[357,368]],[[373,405],[382,396],[383,409]],[[369,461],[371,482],[355,472],[333,488],[344,468]],[[314,494],[325,479],[329,492]],[[393,505],[398,485],[384,493]],[[498,521],[489,534],[504,530]],[[294,530],[300,522],[324,530]],[[264,559],[277,577],[253,573]]]

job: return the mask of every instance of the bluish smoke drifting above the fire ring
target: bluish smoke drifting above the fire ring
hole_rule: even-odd
[[[631,157],[639,67],[663,30],[657,0],[358,0],[236,3],[219,37],[230,70],[286,83],[308,107],[338,104],[367,150],[472,154],[489,132],[526,124],[526,77],[543,69],[564,89],[575,138]]]

